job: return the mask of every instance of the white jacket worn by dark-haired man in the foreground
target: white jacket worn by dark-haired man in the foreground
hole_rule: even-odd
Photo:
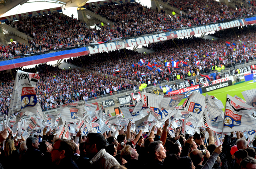
[[[110,169],[114,165],[120,165],[116,158],[107,153],[104,148],[90,160],[90,164],[94,165],[95,169]]]

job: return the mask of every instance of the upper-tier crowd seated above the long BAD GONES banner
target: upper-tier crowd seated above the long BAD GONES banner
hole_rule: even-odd
[[[0,59],[26,54],[44,53],[49,50],[65,49],[88,45],[89,43],[105,42],[124,37],[139,36],[167,29],[180,29],[193,25],[225,21],[255,14],[255,6],[249,9],[241,6],[238,9],[228,7],[215,0],[205,1],[171,1],[172,6],[186,12],[185,16],[170,17],[165,11],[154,11],[139,3],[120,5],[104,5],[97,14],[114,22],[113,27],[99,24],[99,29],[91,29],[86,23],[63,14],[53,13],[44,16],[22,17],[14,22],[14,27],[33,39],[27,46],[12,43],[0,46]],[[11,23],[9,23],[11,24]],[[95,23],[96,25],[96,23]],[[95,26],[96,27],[96,26]]]

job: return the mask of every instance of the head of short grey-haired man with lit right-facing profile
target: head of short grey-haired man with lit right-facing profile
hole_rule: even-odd
[[[166,158],[166,150],[162,145],[162,141],[153,141],[147,148],[149,155],[162,162]]]

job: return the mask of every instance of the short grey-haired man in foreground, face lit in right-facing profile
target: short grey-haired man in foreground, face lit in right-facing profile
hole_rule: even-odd
[[[162,160],[166,158],[166,150],[162,141],[153,141],[148,145],[148,153],[151,157],[145,165],[146,168],[163,169]]]

